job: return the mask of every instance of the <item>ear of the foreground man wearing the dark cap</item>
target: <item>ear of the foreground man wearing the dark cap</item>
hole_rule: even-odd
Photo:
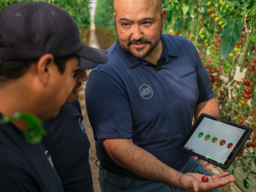
[[[44,86],[47,85],[50,78],[50,67],[55,65],[52,54],[43,55],[37,63],[38,76]]]

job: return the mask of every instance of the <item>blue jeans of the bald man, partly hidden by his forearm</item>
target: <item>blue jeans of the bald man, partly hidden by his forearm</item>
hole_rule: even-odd
[[[193,156],[190,157],[188,163],[186,163],[185,166],[180,170],[180,173],[200,173],[203,175],[213,175],[206,170],[200,162],[194,160]],[[169,185],[154,180],[130,178],[129,176],[112,173],[103,169],[100,165],[98,179],[100,181],[100,188],[102,192],[187,192],[187,190],[173,188]],[[210,192],[221,192],[221,190],[217,188],[210,190]]]

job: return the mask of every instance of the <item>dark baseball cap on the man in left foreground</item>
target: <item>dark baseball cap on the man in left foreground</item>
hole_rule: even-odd
[[[76,22],[65,9],[45,2],[19,2],[0,11],[0,60],[37,60],[46,53],[77,55],[80,70],[106,63],[106,51],[81,41]]]

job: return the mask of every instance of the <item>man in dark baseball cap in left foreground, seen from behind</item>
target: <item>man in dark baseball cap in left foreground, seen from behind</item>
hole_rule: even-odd
[[[80,58],[90,60],[89,68],[107,61],[81,42],[70,14],[49,3],[12,4],[0,12],[0,26],[0,119],[15,112],[57,116],[75,87]],[[0,124],[1,191],[63,191],[42,142],[24,139],[27,129],[22,120]]]

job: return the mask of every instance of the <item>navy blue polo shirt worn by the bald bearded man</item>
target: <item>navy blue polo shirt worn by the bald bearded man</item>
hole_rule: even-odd
[[[96,155],[106,168],[137,178],[117,165],[99,141],[132,139],[166,165],[180,170],[190,155],[177,149],[191,128],[196,105],[214,97],[210,79],[193,43],[163,33],[165,65],[156,71],[116,42],[109,61],[91,71],[86,107]]]

